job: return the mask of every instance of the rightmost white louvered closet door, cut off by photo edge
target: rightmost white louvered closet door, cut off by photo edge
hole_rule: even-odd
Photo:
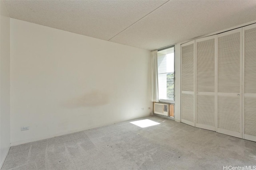
[[[243,138],[256,141],[256,24],[243,28]]]

